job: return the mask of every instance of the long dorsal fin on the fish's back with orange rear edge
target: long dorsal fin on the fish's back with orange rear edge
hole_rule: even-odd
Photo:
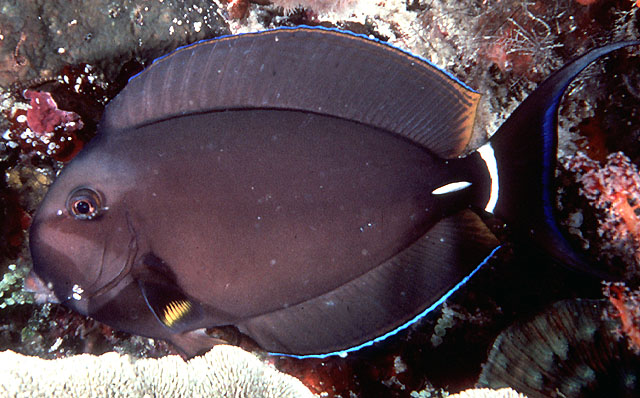
[[[276,29],[200,42],[156,60],[111,101],[101,128],[289,109],[382,128],[451,158],[469,141],[479,97],[387,44],[332,29]]]

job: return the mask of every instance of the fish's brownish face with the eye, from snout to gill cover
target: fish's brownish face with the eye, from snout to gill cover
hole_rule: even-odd
[[[138,252],[124,200],[127,179],[111,163],[94,153],[74,159],[50,187],[29,230],[31,282],[37,283],[27,281],[27,287],[39,287],[41,297],[85,315],[133,281]]]

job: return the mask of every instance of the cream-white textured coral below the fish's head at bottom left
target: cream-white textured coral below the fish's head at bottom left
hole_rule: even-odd
[[[219,345],[183,361],[107,353],[44,360],[0,353],[2,397],[252,397],[314,395],[297,379],[252,354]]]

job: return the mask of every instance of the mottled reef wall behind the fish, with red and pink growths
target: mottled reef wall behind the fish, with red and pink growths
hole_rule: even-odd
[[[48,184],[91,139],[104,105],[128,78],[178,46],[298,24],[389,41],[483,94],[472,150],[550,71],[598,44],[640,38],[640,8],[628,0],[296,3],[1,2],[0,349],[42,358],[174,352],[164,342],[119,333],[63,307],[34,304],[22,282],[31,266],[27,229]],[[558,167],[566,231],[633,291],[640,242],[638,53],[637,47],[617,52],[570,88],[559,121]],[[601,185],[611,182],[626,191]],[[508,229],[492,227],[508,240]],[[602,298],[599,281],[507,245],[440,311],[389,341],[347,358],[270,360],[326,396],[439,396],[445,388],[475,384],[493,340],[514,320],[573,297]]]

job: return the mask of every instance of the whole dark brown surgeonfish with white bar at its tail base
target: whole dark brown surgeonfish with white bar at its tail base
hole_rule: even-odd
[[[630,44],[552,74],[465,157],[479,94],[384,43],[297,28],[182,48],[108,104],[49,189],[28,283],[187,356],[226,325],[323,355],[451,294],[499,245],[482,213],[588,270],[553,218],[557,108]]]

